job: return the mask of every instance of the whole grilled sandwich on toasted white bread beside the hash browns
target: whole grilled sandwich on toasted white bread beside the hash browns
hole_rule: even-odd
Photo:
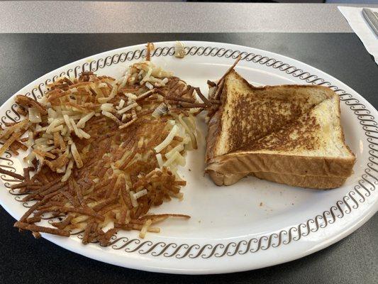
[[[246,175],[287,185],[330,189],[352,174],[338,95],[327,87],[254,87],[228,72],[221,105],[209,119],[206,172],[216,185]]]

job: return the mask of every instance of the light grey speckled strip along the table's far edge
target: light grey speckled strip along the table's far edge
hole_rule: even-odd
[[[0,1],[0,11],[0,33],[352,32],[338,4]]]

